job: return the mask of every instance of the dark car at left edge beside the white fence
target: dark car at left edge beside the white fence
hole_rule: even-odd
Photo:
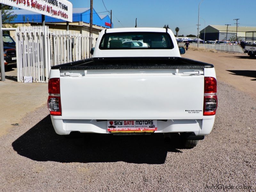
[[[4,66],[12,68],[17,64],[16,43],[10,35],[3,35]]]

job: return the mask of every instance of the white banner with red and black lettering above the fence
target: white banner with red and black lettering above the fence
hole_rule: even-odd
[[[0,0],[0,3],[72,22],[73,5],[67,0]]]

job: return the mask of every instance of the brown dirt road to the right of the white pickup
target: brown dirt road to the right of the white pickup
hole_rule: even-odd
[[[191,50],[181,56],[213,64],[217,81],[233,85],[256,99],[256,58],[243,53]]]

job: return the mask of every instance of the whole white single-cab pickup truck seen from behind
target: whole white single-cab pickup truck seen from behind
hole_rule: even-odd
[[[179,133],[195,147],[212,131],[216,75],[213,65],[180,53],[170,29],[102,30],[92,58],[51,68],[55,132]]]

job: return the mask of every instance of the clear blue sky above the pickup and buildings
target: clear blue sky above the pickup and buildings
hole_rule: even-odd
[[[90,7],[90,0],[69,0],[73,8]],[[201,2],[202,1],[202,2]],[[231,24],[256,27],[256,0],[103,0],[112,10],[114,28],[164,27],[168,24],[175,34],[197,35],[198,5],[200,4],[199,31],[208,25]],[[93,0],[93,8],[100,15],[108,14],[102,0]],[[110,15],[109,15],[110,17]],[[204,22],[205,20],[205,22]]]

